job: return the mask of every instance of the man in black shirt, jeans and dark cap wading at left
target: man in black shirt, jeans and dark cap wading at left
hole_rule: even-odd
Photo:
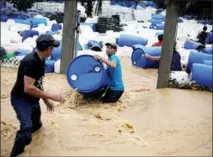
[[[20,122],[20,130],[16,134],[11,157],[24,152],[25,146],[31,143],[32,133],[42,126],[39,99],[43,99],[50,112],[54,111],[50,100],[64,102],[61,95],[44,92],[42,85],[45,58],[58,46],[59,42],[51,35],[41,35],[36,40],[36,50],[26,55],[20,63],[17,80],[11,92],[11,104]]]

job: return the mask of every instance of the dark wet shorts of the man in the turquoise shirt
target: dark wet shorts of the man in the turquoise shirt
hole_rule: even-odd
[[[105,96],[102,98],[102,101],[104,103],[115,103],[121,98],[123,93],[124,93],[124,90],[116,91],[116,90],[111,90],[109,88],[107,89]]]

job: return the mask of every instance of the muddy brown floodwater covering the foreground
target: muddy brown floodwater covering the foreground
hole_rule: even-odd
[[[136,69],[122,59],[126,91],[116,104],[85,101],[66,76],[47,74],[46,91],[66,102],[48,113],[21,156],[212,156],[212,93],[156,89],[157,70]],[[17,69],[1,68],[1,156],[8,156],[19,128],[10,104]]]

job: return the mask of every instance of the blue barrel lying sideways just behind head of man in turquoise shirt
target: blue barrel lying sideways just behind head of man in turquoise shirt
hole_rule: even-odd
[[[121,34],[120,38],[116,39],[116,43],[123,47],[123,46],[128,46],[132,47],[134,45],[140,44],[140,45],[147,45],[148,40],[139,36],[133,36],[133,35],[128,35],[128,34]]]

